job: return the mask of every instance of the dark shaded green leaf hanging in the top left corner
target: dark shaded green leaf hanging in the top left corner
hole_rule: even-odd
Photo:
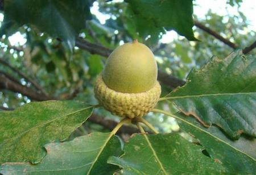
[[[42,32],[61,38],[70,49],[75,46],[75,38],[85,20],[91,19],[92,1],[5,1],[5,19],[1,27],[1,35],[8,34],[13,24],[22,26],[32,24]]]

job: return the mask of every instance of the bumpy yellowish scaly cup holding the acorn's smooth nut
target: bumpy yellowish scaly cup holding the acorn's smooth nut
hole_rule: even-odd
[[[95,97],[100,105],[114,115],[135,118],[146,115],[158,102],[161,86],[158,81],[148,91],[142,93],[121,93],[110,89],[102,80],[102,74],[97,77],[94,86]]]

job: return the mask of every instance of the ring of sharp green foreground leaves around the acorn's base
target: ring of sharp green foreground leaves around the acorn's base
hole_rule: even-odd
[[[205,126],[217,124],[231,139],[239,139],[242,132],[255,137],[256,84],[250,83],[255,80],[255,68],[255,57],[245,57],[240,51],[225,59],[213,57],[204,68],[189,74],[185,86],[162,100],[174,102],[184,114],[195,115]],[[202,82],[204,86],[198,88]],[[226,82],[230,82],[228,86]],[[0,172],[103,174],[122,168],[123,173],[132,174],[255,173],[254,139],[242,137],[232,141],[215,126],[205,128],[184,114],[157,109],[154,111],[178,119],[180,127],[198,139],[200,145],[178,134],[137,134],[122,150],[123,143],[114,136],[116,130],[56,142],[67,139],[89,118],[92,110],[93,106],[81,102],[51,101],[30,103],[13,112],[3,112],[0,145],[3,156],[0,160],[4,164]],[[46,143],[51,144],[45,145],[44,150]],[[208,156],[202,153],[203,150]],[[26,161],[41,162],[31,165]]]

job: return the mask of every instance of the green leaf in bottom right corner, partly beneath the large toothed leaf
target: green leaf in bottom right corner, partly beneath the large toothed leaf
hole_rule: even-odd
[[[256,174],[256,140],[244,138],[232,141],[217,127],[205,128],[193,118],[184,114],[171,114],[162,110],[155,112],[172,116],[179,126],[199,140],[210,157],[225,166],[230,174]]]

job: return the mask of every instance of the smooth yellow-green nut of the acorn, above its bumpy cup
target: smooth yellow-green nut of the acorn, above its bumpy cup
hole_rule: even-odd
[[[114,49],[106,61],[102,77],[112,90],[141,93],[155,86],[157,70],[150,48],[135,40]]]

